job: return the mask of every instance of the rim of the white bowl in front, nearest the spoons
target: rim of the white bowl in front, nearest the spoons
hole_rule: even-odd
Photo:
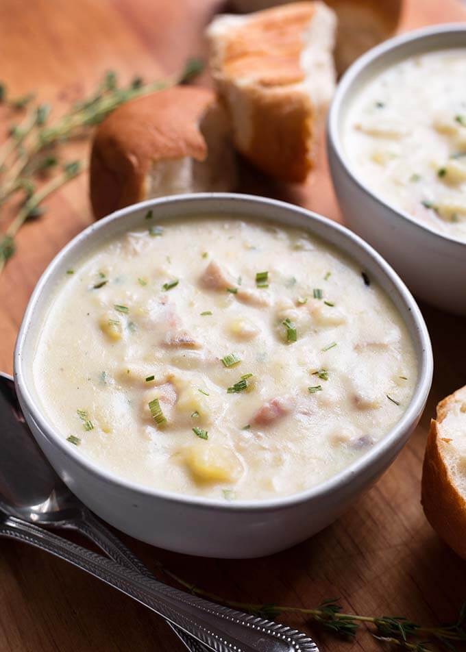
[[[206,200],[212,202],[227,201],[229,203],[259,203],[265,209],[267,209],[267,207],[278,208],[278,210],[291,211],[292,213],[306,217],[309,220],[309,231],[311,233],[312,222],[323,223],[326,225],[326,227],[330,227],[330,230],[334,229],[335,231],[339,231],[343,238],[351,241],[349,243],[350,245],[354,244],[356,248],[363,249],[365,253],[367,253],[373,260],[374,264],[378,266],[382,274],[388,277],[389,281],[391,281],[391,284],[393,284],[397,294],[399,295],[402,303],[404,304],[406,310],[410,312],[410,315],[413,318],[412,327],[406,323],[405,325],[408,329],[408,333],[413,344],[419,347],[419,355],[417,356],[418,378],[415,390],[413,392],[413,397],[410,400],[408,408],[406,408],[405,412],[400,417],[400,420],[395,423],[393,428],[391,428],[391,430],[389,430],[389,432],[387,432],[387,434],[382,437],[382,439],[376,442],[376,444],[374,444],[374,446],[369,449],[367,453],[361,455],[361,457],[358,457],[358,459],[354,460],[354,462],[349,464],[349,466],[343,468],[339,473],[330,476],[323,482],[302,492],[265,500],[248,499],[241,501],[225,501],[223,499],[212,499],[181,493],[178,494],[172,491],[151,488],[143,484],[138,484],[136,481],[131,481],[123,477],[119,477],[112,471],[106,468],[101,468],[98,464],[93,462],[93,460],[88,459],[77,450],[75,450],[75,447],[70,446],[66,440],[60,436],[58,430],[55,429],[53,425],[47,421],[45,414],[43,414],[40,407],[36,404],[36,401],[32,396],[32,393],[29,392],[27,386],[27,381],[25,379],[26,375],[24,373],[24,366],[27,365],[27,362],[25,362],[23,350],[25,349],[28,334],[30,331],[32,331],[32,329],[29,329],[29,325],[32,323],[36,304],[38,303],[42,292],[44,292],[47,288],[49,279],[53,278],[56,268],[64,264],[63,261],[66,260],[71,253],[73,253],[74,249],[79,247],[79,245],[85,240],[88,240],[88,238],[92,238],[93,234],[95,234],[96,231],[106,229],[108,225],[111,225],[115,221],[125,218],[125,216],[128,214],[147,211],[158,205],[186,202],[197,203]],[[247,208],[245,208],[244,214],[247,216]],[[180,212],[180,217],[182,216],[183,213]],[[349,251],[343,249],[341,246],[339,247],[333,244],[332,240],[325,237],[322,237],[322,239],[329,244],[332,244],[334,247],[336,247],[336,249],[343,251],[345,255],[349,256],[349,258],[357,260],[354,254],[349,253]],[[392,449],[392,447],[396,448],[397,442],[400,442],[400,440],[404,438],[406,431],[410,430],[410,428],[413,427],[413,423],[418,420],[419,414],[421,414],[422,410],[424,410],[428,392],[432,383],[432,371],[433,357],[430,337],[426,323],[424,322],[424,318],[421,314],[421,311],[419,310],[419,307],[417,306],[417,303],[415,302],[415,299],[413,298],[412,294],[410,294],[408,288],[406,288],[404,285],[402,279],[400,279],[397,273],[395,273],[393,268],[391,268],[391,266],[384,260],[384,258],[382,258],[382,256],[369,244],[367,244],[365,240],[354,234],[353,231],[343,227],[341,224],[300,206],[293,205],[284,201],[278,201],[276,199],[269,199],[267,197],[245,195],[232,192],[199,192],[191,193],[188,195],[171,195],[170,197],[149,199],[147,201],[136,203],[113,212],[105,218],[90,224],[88,227],[86,227],[86,229],[77,234],[77,236],[75,236],[62,249],[60,249],[60,251],[51,260],[45,271],[40,276],[40,279],[38,280],[36,287],[32,292],[29,302],[27,303],[14,349],[14,382],[16,390],[21,399],[21,403],[25,404],[27,410],[32,415],[32,418],[34,418],[34,421],[40,428],[41,433],[46,437],[47,441],[53,446],[61,449],[62,453],[64,453],[66,457],[72,457],[78,466],[84,467],[84,471],[90,473],[90,475],[97,476],[101,480],[105,480],[110,485],[116,484],[120,488],[131,490],[136,494],[150,497],[151,499],[162,499],[164,501],[168,501],[169,503],[176,503],[178,505],[187,504],[208,510],[232,510],[234,512],[264,512],[270,510],[278,510],[282,507],[298,505],[299,503],[304,503],[311,499],[319,499],[326,494],[331,494],[334,490],[344,488],[344,486],[349,484],[352,479],[354,479],[359,473],[367,471],[373,462],[375,462],[378,458],[383,457],[385,453],[389,452]]]

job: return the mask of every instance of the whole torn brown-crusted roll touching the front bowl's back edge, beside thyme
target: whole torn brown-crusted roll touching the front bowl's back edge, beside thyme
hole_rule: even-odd
[[[122,105],[93,141],[95,217],[151,197],[232,190],[230,136],[228,115],[207,88],[177,86]]]

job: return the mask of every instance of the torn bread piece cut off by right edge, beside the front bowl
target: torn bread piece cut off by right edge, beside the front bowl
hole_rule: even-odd
[[[422,505],[437,534],[466,559],[466,386],[437,405],[430,423]]]

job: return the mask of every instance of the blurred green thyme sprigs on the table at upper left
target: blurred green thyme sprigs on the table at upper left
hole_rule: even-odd
[[[40,216],[42,201],[86,169],[79,161],[60,166],[60,145],[71,138],[87,136],[92,127],[125,102],[162,88],[184,84],[201,68],[199,60],[188,60],[178,75],[149,84],[134,77],[126,86],[119,86],[116,73],[109,71],[88,99],[75,103],[53,123],[48,123],[51,110],[48,104],[34,106],[31,93],[9,99],[5,84],[0,83],[0,103],[15,112],[25,111],[23,120],[10,126],[8,138],[0,145],[0,209],[6,201],[21,195],[12,222],[0,234],[0,273],[14,254],[14,238],[25,221]],[[53,178],[43,183],[42,177],[51,173],[55,173]],[[39,188],[36,188],[37,184],[40,184]]]

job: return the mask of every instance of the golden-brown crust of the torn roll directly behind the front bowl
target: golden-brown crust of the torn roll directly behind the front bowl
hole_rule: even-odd
[[[140,97],[106,118],[90,155],[90,201],[97,219],[146,198],[146,178],[159,160],[206,158],[201,117],[212,90],[176,86]]]

